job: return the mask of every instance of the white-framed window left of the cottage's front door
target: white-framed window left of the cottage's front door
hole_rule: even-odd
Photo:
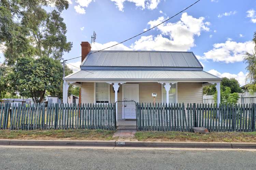
[[[109,103],[109,84],[95,83],[96,103]]]

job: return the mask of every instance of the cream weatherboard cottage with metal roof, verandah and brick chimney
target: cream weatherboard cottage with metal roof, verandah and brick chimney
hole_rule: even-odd
[[[153,93],[156,103],[202,103],[202,86],[209,83],[216,85],[220,102],[222,79],[203,71],[193,52],[97,52],[90,50],[88,42],[81,47],[81,70],[63,78],[63,103],[67,103],[70,83],[81,86],[81,103],[153,103]]]

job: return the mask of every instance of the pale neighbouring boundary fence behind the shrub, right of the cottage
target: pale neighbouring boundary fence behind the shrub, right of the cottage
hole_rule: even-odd
[[[239,99],[237,104],[251,104],[256,103],[256,92],[251,94],[250,92],[239,93]],[[203,103],[213,104],[213,95],[203,95]]]

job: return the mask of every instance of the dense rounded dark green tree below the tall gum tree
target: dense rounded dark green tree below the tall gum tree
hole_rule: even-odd
[[[9,91],[19,91],[24,97],[31,97],[34,103],[41,103],[46,90],[55,96],[62,83],[61,63],[43,56],[38,59],[19,57],[8,74]]]

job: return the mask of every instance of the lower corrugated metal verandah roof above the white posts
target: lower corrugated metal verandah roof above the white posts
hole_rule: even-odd
[[[80,70],[65,79],[220,79],[205,71],[180,70]]]

